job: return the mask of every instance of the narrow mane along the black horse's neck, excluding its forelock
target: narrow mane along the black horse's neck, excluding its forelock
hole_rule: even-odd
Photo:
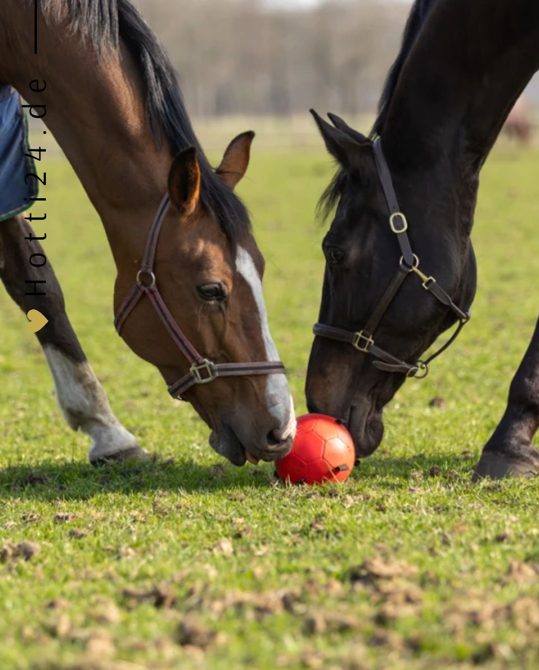
[[[404,34],[402,36],[400,52],[398,53],[394,64],[392,64],[389,70],[389,74],[386,78],[386,82],[382,90],[382,96],[380,97],[380,102],[378,103],[378,117],[376,117],[376,121],[372,127],[370,137],[374,138],[376,135],[382,134],[382,129],[384,128],[384,123],[386,122],[386,117],[388,115],[391,98],[395,91],[400,72],[402,72],[402,67],[406,62],[406,58],[408,58],[410,55],[410,51],[416,42],[421,28],[427,20],[429,12],[436,2],[437,0],[415,0],[414,5],[410,10],[410,15],[408,16],[408,21],[406,21],[406,27],[404,28]]]

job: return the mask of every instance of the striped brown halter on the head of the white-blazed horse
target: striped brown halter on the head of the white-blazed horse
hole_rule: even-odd
[[[210,381],[214,381],[218,377],[250,377],[251,375],[283,375],[285,374],[285,366],[280,360],[271,360],[265,362],[252,362],[252,363],[214,363],[208,358],[201,356],[196,348],[189,342],[185,337],[181,328],[175,322],[172,314],[169,312],[159,289],[157,288],[157,279],[155,273],[153,272],[153,266],[155,263],[155,250],[157,249],[157,241],[159,240],[159,233],[163,226],[163,221],[169,210],[170,200],[169,196],[166,195],[150,228],[148,235],[148,240],[146,243],[146,249],[144,252],[143,263],[141,269],[137,273],[137,281],[135,286],[123,303],[114,318],[114,326],[120,334],[125,320],[133,312],[135,306],[138,304],[139,300],[143,295],[147,295],[153,304],[157,315],[165,324],[171,338],[174,340],[175,344],[187,358],[191,367],[187,375],[184,375],[176,381],[175,383],[168,385],[168,391],[173,398],[184,400],[183,394],[187,389],[190,389],[196,384],[208,384]],[[149,283],[144,283],[141,281],[142,277],[149,279]]]

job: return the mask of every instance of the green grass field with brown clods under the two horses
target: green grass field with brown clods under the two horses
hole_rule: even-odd
[[[119,419],[161,460],[88,464],[2,293],[0,540],[40,551],[3,553],[1,669],[536,668],[539,482],[473,485],[470,470],[539,308],[538,168],[533,150],[489,159],[473,320],[396,395],[376,454],[342,486],[281,488],[269,464],[220,460],[115,334],[104,232],[51,160],[46,250],[68,313]],[[240,188],[298,413],[323,267],[313,210],[331,170],[321,150],[255,145]]]

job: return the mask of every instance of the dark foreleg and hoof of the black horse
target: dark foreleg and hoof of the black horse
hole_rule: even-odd
[[[473,472],[481,477],[532,478],[539,474],[539,452],[532,445],[539,427],[539,321],[509,390],[502,421],[485,445]]]

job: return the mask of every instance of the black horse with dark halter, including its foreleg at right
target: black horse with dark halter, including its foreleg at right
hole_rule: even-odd
[[[307,405],[348,425],[358,458],[406,377],[427,373],[423,352],[469,318],[479,172],[538,68],[535,0],[416,0],[370,135],[313,111],[339,170],[320,204],[335,216]],[[474,478],[535,476],[538,425],[539,324]]]

